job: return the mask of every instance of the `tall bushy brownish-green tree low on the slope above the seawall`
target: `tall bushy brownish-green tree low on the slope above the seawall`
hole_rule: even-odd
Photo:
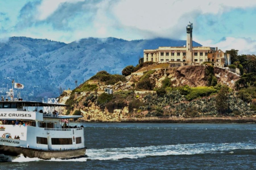
[[[230,110],[230,103],[228,102],[228,98],[230,96],[229,88],[228,86],[224,86],[220,89],[218,92],[218,95],[216,96],[216,110],[220,114],[226,114]]]

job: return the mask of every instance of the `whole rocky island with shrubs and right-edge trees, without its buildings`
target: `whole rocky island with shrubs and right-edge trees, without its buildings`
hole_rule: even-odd
[[[254,73],[240,76],[209,62],[173,67],[148,61],[122,74],[100,71],[63,91],[60,102],[69,105],[63,113],[82,114],[86,122],[256,121]],[[251,81],[246,88],[245,79]]]

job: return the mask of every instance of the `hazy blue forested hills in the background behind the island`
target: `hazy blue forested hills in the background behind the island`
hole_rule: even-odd
[[[24,99],[56,97],[59,87],[75,88],[100,70],[121,74],[136,65],[143,49],[183,46],[183,40],[151,39],[126,41],[116,38],[88,38],[69,44],[47,39],[11,37],[0,42],[0,85],[4,94],[12,79],[25,85]],[[193,42],[194,46],[201,46]]]

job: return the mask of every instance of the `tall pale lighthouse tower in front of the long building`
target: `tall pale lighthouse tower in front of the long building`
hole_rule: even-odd
[[[187,24],[187,45],[186,45],[186,62],[193,62],[193,50],[192,50],[192,29],[193,23]]]

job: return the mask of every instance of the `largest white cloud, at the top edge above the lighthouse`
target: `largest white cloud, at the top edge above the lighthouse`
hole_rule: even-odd
[[[250,0],[123,0],[113,7],[113,13],[125,26],[175,37],[189,21],[195,22],[199,14],[221,14],[231,8],[255,5],[256,1]]]

